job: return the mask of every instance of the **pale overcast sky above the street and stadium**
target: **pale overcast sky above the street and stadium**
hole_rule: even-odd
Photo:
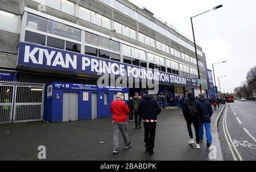
[[[191,16],[223,5],[193,18],[196,43],[203,48],[208,69],[214,65],[216,85],[220,77],[221,91],[233,93],[246,81],[246,73],[256,65],[256,1],[255,0],[130,0],[147,7],[156,16],[172,24],[192,40]],[[222,77],[227,75],[227,77]]]

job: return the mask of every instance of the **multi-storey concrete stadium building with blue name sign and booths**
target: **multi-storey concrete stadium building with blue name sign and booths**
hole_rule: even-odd
[[[129,1],[3,0],[0,14],[0,123],[109,116],[115,94],[133,97],[144,81],[159,82],[155,96],[200,93],[193,42]],[[99,87],[109,74],[122,87]]]

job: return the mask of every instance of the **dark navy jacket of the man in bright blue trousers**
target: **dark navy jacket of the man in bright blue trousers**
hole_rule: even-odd
[[[212,106],[209,102],[205,101],[204,98],[199,98],[198,103],[203,110],[203,115],[201,116],[200,121],[202,123],[210,123],[210,118],[212,117],[213,113]]]

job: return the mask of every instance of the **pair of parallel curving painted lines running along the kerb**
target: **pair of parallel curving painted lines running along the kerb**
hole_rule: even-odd
[[[230,105],[230,106],[231,106],[231,105]],[[238,152],[236,146],[234,145],[234,142],[233,142],[232,138],[230,137],[230,134],[229,134],[229,131],[228,131],[228,125],[226,124],[226,115],[227,115],[227,111],[228,111],[228,104],[227,104],[227,106],[226,106],[226,110],[225,110],[225,114],[224,114],[224,119],[223,119],[224,135],[225,135],[225,137],[226,137],[226,141],[228,142],[229,149],[230,149],[230,151],[231,151],[231,153],[232,153],[232,156],[233,156],[234,160],[237,161],[237,158],[236,158],[236,156],[235,156],[235,154],[234,154],[233,149],[232,149],[231,146],[230,146],[230,142],[231,142],[231,144],[232,144],[234,150],[236,151],[239,160],[240,160],[240,161],[243,161],[243,159],[242,159],[240,153]],[[224,124],[224,123],[225,123],[225,124]],[[226,131],[225,131],[225,129],[226,129]],[[227,135],[228,135],[228,137],[227,137]]]

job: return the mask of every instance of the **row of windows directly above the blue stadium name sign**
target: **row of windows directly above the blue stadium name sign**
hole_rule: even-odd
[[[31,23],[36,23],[36,24],[31,24]],[[45,25],[42,26],[42,24],[45,24]],[[28,30],[28,28],[30,28],[30,30]],[[25,41],[81,53],[81,43],[77,44],[77,43],[73,43],[72,41],[64,40],[64,38],[58,39],[57,37],[53,37],[49,35],[47,36],[47,34],[43,35],[43,34],[40,34],[41,32],[39,33],[31,32],[31,29],[41,31],[41,32],[47,31],[48,33],[52,33],[53,35],[72,38],[68,34],[69,30],[72,31],[72,27],[55,22],[53,20],[28,14]],[[72,32],[75,32],[75,31],[72,31]],[[81,33],[79,34],[81,35]],[[115,61],[121,61],[121,57],[119,54],[121,52],[120,43],[118,43],[117,41],[113,41],[106,37],[95,35],[90,32],[85,32],[85,45],[86,45],[85,54],[88,54],[90,56],[96,56],[96,57],[106,58],[110,60],[115,60]],[[91,47],[90,45],[93,45],[94,47]],[[100,49],[100,48],[104,48],[104,49]],[[110,51],[106,51],[105,49],[109,49]],[[114,51],[117,53],[113,53],[111,51]],[[176,51],[175,49],[172,49],[171,52],[174,52],[174,54],[177,54],[178,51]],[[177,74],[179,73],[179,70],[181,70],[182,72],[189,73],[188,66],[181,65],[181,64],[179,66],[178,62],[169,60],[164,57],[157,56],[155,54],[147,53],[146,55],[145,51],[142,51],[141,49],[138,49],[138,48],[130,47],[129,45],[123,44],[122,53],[123,53],[123,62],[127,64],[133,64],[133,65],[147,68],[146,61],[148,61],[149,62],[148,67],[151,69],[157,69],[162,72],[166,72],[166,67],[167,67],[167,72],[169,73]],[[197,70],[191,68],[191,73],[197,74]],[[183,74],[183,76],[189,77],[188,74],[186,75]]]

